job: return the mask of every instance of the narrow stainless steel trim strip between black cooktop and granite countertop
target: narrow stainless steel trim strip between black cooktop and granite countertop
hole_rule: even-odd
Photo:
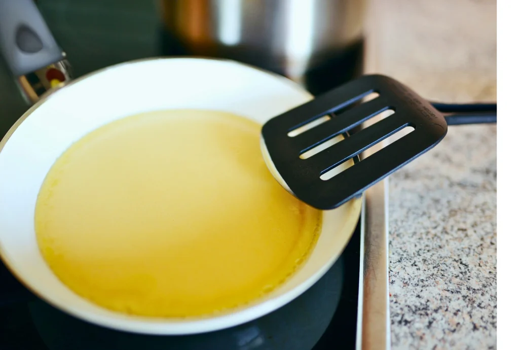
[[[380,55],[383,48],[380,44],[380,25],[385,12],[375,0],[367,0],[365,23],[365,57],[364,73],[380,73]],[[375,119],[375,120],[373,120]],[[364,123],[367,127],[380,118],[372,118]],[[380,150],[386,142],[364,152],[373,154]],[[362,350],[390,350],[391,324],[389,314],[389,180],[370,187],[364,193],[364,203],[361,212],[361,232],[364,235],[364,273],[361,288],[362,308]],[[361,253],[362,255],[362,253]],[[360,293],[360,291],[359,291]]]

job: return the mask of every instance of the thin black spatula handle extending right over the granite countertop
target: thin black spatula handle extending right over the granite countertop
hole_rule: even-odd
[[[497,123],[497,103],[432,103],[445,113],[447,125]]]

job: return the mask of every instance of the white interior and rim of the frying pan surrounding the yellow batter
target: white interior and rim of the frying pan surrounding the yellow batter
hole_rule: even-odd
[[[9,3],[29,6],[31,1],[2,0],[0,13]],[[34,6],[24,11],[28,18],[37,16]],[[6,30],[6,22],[3,23],[0,18],[0,44],[7,56],[6,48],[17,49],[16,37],[5,35],[15,31]],[[44,26],[37,21],[25,25],[31,23],[37,23],[30,27],[34,33]],[[43,44],[42,50],[55,49],[46,47],[45,41]],[[22,75],[26,72],[13,69],[16,59],[29,58],[34,70],[51,63],[42,60],[38,67],[38,52],[10,52],[5,58],[13,72]],[[52,55],[44,56],[48,59]],[[359,219],[360,198],[324,212],[315,249],[278,289],[233,312],[193,319],[129,316],[79,297],[52,273],[40,254],[34,232],[34,207],[40,185],[54,161],[73,142],[115,119],[153,110],[208,109],[265,123],[311,98],[304,89],[281,76],[236,62],[200,58],[122,63],[54,89],[23,114],[0,142],[0,257],[13,275],[40,298],[69,314],[113,329],[194,334],[235,326],[274,311],[312,286],[336,261]]]

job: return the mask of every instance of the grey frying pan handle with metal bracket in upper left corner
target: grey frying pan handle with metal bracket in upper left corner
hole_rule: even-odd
[[[0,0],[0,54],[28,103],[72,79],[65,53],[33,0]]]

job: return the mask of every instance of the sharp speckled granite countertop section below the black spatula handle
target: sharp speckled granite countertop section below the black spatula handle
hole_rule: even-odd
[[[452,127],[389,181],[394,348],[496,345],[495,143],[495,127]]]

